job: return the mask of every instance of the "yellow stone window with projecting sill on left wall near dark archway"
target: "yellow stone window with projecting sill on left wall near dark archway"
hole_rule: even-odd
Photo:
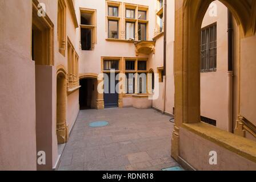
[[[69,76],[68,88],[78,86],[78,54],[75,52],[74,46],[69,38],[67,38],[67,72]]]

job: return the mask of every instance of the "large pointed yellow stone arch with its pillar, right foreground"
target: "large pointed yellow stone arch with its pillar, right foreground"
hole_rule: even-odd
[[[201,59],[199,49],[201,24],[210,3],[213,1],[177,0],[175,3],[175,127],[171,148],[172,156],[175,159],[178,159],[179,154],[179,128],[187,123],[201,122]],[[245,40],[245,38],[255,34],[255,5],[253,5],[253,1],[219,1],[231,11],[237,20],[240,40]],[[241,48],[245,49],[242,46]],[[241,51],[239,53],[241,54]],[[240,55],[239,60],[241,60]],[[239,89],[241,88],[242,86]],[[240,90],[239,92],[241,93]]]

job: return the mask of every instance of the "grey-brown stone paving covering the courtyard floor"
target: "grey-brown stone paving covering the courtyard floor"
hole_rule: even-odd
[[[81,110],[58,170],[158,171],[178,166],[170,157],[169,119],[153,109]],[[94,121],[109,125],[89,127]]]

